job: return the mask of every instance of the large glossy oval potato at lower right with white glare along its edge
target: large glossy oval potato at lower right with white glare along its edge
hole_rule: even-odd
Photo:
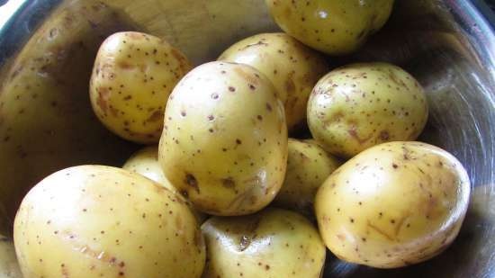
[[[419,142],[383,143],[330,175],[315,208],[320,234],[339,258],[393,268],[441,253],[457,236],[470,195],[461,163]]]

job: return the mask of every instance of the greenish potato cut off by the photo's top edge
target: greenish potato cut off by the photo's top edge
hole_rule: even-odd
[[[355,51],[380,30],[393,0],[266,0],[275,22],[289,35],[330,55]]]

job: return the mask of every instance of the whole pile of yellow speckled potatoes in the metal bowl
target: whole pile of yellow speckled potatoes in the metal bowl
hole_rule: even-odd
[[[455,157],[414,141],[428,121],[419,82],[325,56],[363,45],[393,0],[266,4],[285,33],[198,67],[149,34],[103,42],[94,113],[149,146],[122,168],[73,166],[32,188],[14,222],[25,278],[314,278],[326,248],[393,268],[453,242],[470,181]],[[289,138],[306,125],[312,139]],[[0,276],[19,277],[0,238],[3,257]]]

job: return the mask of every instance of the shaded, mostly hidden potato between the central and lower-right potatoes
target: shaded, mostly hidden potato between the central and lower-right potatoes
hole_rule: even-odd
[[[284,184],[274,203],[312,216],[316,192],[341,163],[311,141],[289,139],[288,149]]]

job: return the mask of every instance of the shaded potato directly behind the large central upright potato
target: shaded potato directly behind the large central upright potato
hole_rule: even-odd
[[[225,50],[219,60],[247,64],[268,77],[284,103],[289,130],[306,118],[311,90],[329,72],[320,53],[282,32],[240,40]]]

